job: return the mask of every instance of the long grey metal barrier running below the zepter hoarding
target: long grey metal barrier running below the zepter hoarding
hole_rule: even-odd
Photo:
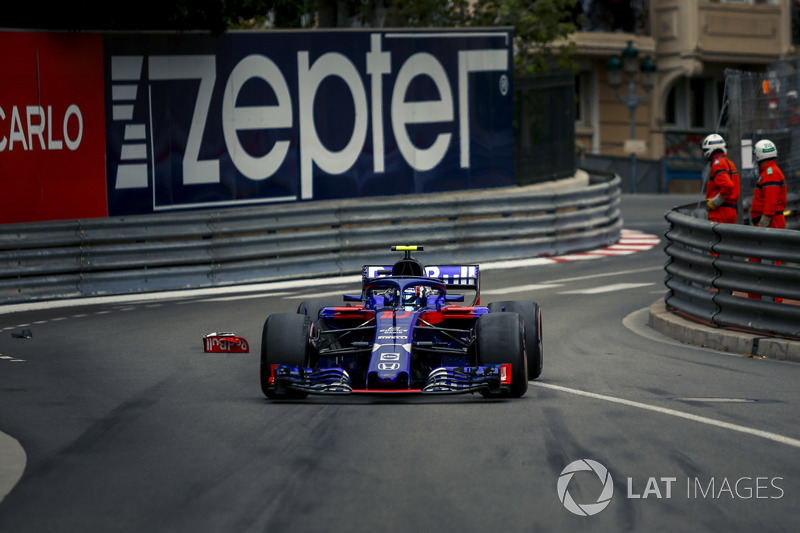
[[[619,240],[620,179],[0,226],[0,303],[557,255]]]

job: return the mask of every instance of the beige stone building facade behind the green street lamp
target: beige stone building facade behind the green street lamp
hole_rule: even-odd
[[[700,140],[723,122],[725,71],[763,71],[796,55],[795,0],[579,0],[580,73],[576,77],[576,149],[580,154],[663,162],[664,183],[696,178]],[[645,91],[633,119],[608,83],[606,65],[632,44],[639,60],[657,65],[654,87]],[[618,93],[618,94],[617,94]],[[631,137],[634,122],[637,141]],[[623,172],[620,172],[621,174]],[[637,172],[637,176],[639,172]],[[670,178],[673,178],[672,180]],[[697,183],[699,186],[699,183]],[[690,188],[692,188],[690,186]],[[677,191],[676,191],[677,192]]]

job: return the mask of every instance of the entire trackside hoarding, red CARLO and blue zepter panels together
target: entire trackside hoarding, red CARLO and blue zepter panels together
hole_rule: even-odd
[[[0,39],[0,222],[514,184],[506,29]]]

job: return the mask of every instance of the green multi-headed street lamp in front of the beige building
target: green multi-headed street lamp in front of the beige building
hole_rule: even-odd
[[[628,94],[620,94],[623,72],[628,77]],[[636,74],[641,72],[640,84],[644,95],[636,93]],[[636,108],[644,102],[650,91],[655,86],[656,64],[647,56],[639,63],[639,50],[633,46],[633,41],[628,41],[628,46],[619,56],[611,56],[606,63],[608,84],[614,89],[614,94],[628,108],[631,117],[631,141],[636,140]],[[636,147],[631,146],[631,192],[636,192]]]

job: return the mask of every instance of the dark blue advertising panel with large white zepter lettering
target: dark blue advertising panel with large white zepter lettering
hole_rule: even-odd
[[[511,42],[105,35],[109,215],[512,185]]]

